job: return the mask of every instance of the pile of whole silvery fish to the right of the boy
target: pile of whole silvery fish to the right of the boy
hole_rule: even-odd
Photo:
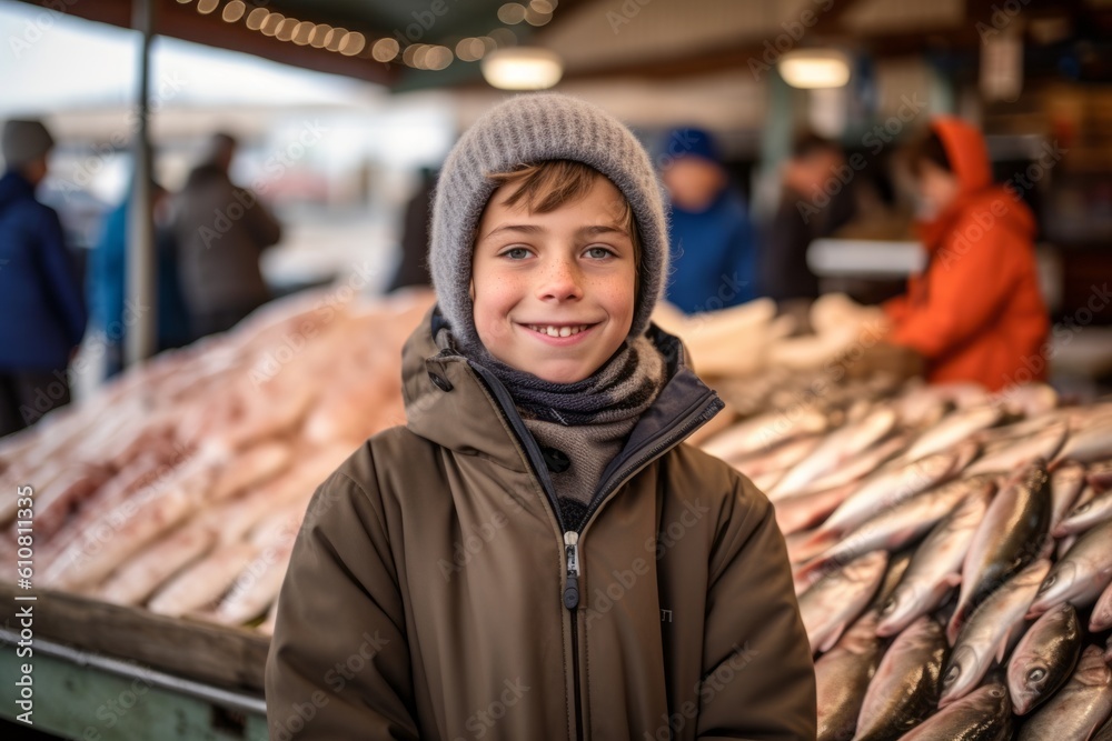
[[[1112,739],[1112,400],[814,382],[702,444],[775,507],[818,738]]]

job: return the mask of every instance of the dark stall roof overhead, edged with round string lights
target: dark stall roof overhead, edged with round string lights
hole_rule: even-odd
[[[50,8],[58,0],[22,0]],[[811,12],[816,22],[793,48],[840,43],[874,57],[959,53],[971,60],[984,33],[1019,31],[1034,43],[1026,72],[1058,73],[1063,53],[1078,56],[1081,79],[1112,78],[1112,2],[1109,0],[1023,0],[1024,23],[1012,24],[1000,0],[549,0],[552,22],[506,26],[498,9],[507,0],[152,0],[158,33],[244,51],[324,72],[346,74],[400,91],[457,87],[480,80],[478,64],[456,60],[440,71],[411,69],[371,57],[374,42],[395,38],[404,48],[433,43],[455,48],[464,38],[509,29],[518,42],[536,42],[562,54],[565,79],[622,76],[685,77],[724,69],[746,70],[763,59],[785,29],[800,27]],[[367,43],[354,56],[281,41],[251,30],[246,13],[221,20],[228,4],[240,3],[312,24],[361,33]],[[530,0],[519,0],[528,4]],[[537,0],[538,2],[540,0]],[[66,12],[128,28],[133,0],[64,4]],[[207,14],[200,10],[214,9]],[[636,31],[627,29],[636,28]],[[801,27],[802,28],[802,27]],[[1041,38],[1042,37],[1042,38]],[[304,39],[302,39],[304,40]]]

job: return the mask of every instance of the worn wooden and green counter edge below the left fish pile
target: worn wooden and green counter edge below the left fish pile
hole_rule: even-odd
[[[3,719],[82,741],[268,738],[266,635],[10,583],[0,600]]]

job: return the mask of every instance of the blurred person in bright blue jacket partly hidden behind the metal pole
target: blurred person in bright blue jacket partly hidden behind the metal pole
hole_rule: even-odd
[[[157,339],[159,352],[179,348],[190,341],[189,314],[178,280],[178,256],[173,232],[169,228],[169,194],[157,183],[152,188],[155,249],[158,271],[156,290]],[[128,224],[131,191],[123,202],[105,217],[100,240],[89,257],[86,292],[89,297],[91,326],[105,342],[105,378],[123,370],[123,348],[128,327],[139,310],[126,300],[128,267]]]

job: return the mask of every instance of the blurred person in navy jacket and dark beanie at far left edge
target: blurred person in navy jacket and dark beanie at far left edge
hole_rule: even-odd
[[[0,137],[0,435],[69,403],[66,370],[85,334],[61,222],[34,199],[53,143],[33,120],[8,121]]]

